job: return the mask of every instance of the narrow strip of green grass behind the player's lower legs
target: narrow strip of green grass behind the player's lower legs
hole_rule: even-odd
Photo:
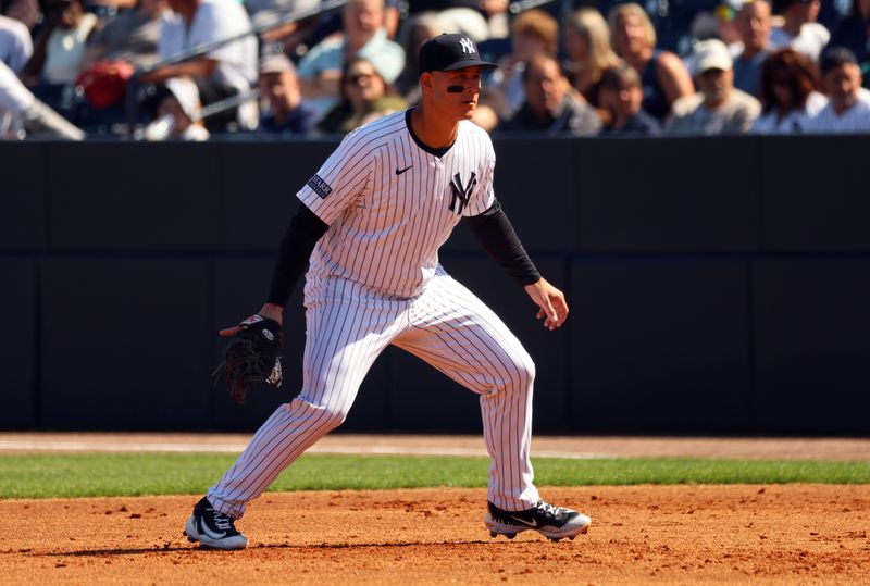
[[[0,498],[200,494],[234,461],[226,454],[0,457]],[[632,484],[870,484],[870,462],[688,458],[538,458],[539,486]],[[486,485],[486,458],[303,456],[271,490]]]

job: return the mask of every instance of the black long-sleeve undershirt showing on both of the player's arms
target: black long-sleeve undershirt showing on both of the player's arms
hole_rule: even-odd
[[[498,200],[484,213],[468,220],[471,232],[484,250],[517,283],[522,286],[532,285],[540,278],[540,273],[525,252]],[[304,204],[299,204],[287,232],[284,233],[266,302],[282,308],[287,306],[296,283],[308,266],[314,245],[327,229],[330,226],[314,212]]]

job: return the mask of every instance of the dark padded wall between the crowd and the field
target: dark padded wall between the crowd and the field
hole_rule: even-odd
[[[537,363],[551,433],[870,433],[870,137],[496,144],[496,189],[571,303],[544,331],[463,226],[444,265]],[[0,428],[250,429],[210,382],[262,302],[332,142],[0,144]],[[345,429],[476,432],[476,398],[398,350]]]

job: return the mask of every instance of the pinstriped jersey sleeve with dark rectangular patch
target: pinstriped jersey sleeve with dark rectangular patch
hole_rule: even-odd
[[[372,157],[358,133],[341,140],[297,197],[326,224],[365,192],[372,174]]]

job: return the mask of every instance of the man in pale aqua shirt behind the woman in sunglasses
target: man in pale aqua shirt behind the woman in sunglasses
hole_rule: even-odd
[[[401,46],[387,38],[384,28],[384,0],[350,0],[341,13],[344,34],[327,37],[299,62],[302,97],[320,115],[338,101],[343,65],[361,57],[377,68],[388,84],[395,84],[405,66]]]

